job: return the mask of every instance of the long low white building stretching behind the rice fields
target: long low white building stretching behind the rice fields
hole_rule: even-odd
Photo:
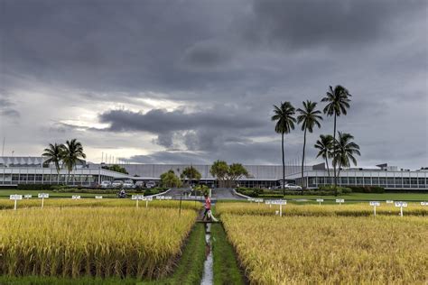
[[[18,184],[64,184],[95,186],[104,180],[132,179],[159,180],[163,172],[173,170],[177,175],[186,167],[200,171],[201,183],[215,185],[216,179],[209,173],[210,165],[190,164],[126,164],[128,175],[105,170],[103,165],[82,163],[70,172],[53,165],[45,165],[42,157],[0,157],[0,186],[17,186]],[[240,179],[240,186],[269,188],[278,186],[283,178],[281,165],[245,165],[250,176]],[[333,171],[325,169],[324,164],[305,166],[303,171],[304,185],[319,188],[333,183]],[[301,183],[302,172],[299,165],[285,166],[285,179]],[[380,186],[386,189],[428,190],[428,169],[398,170],[386,164],[377,169],[340,170],[338,184],[342,186]]]

